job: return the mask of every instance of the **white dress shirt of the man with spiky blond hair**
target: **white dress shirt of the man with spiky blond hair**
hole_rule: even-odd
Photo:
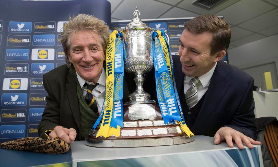
[[[85,98],[85,96],[87,94],[87,87],[84,86],[85,82],[88,85],[91,85],[91,84],[94,84],[94,83],[84,80],[77,73],[76,73],[76,75],[77,75],[78,82],[79,82],[79,84],[82,88],[83,96]],[[104,70],[103,67],[102,67],[102,72],[100,74],[100,77],[99,77],[97,83],[99,83],[99,84],[95,87],[95,89],[93,89],[92,95],[95,97],[96,103],[98,105],[98,111],[99,111],[99,113],[101,113],[102,106],[103,106],[103,101],[104,101],[104,96],[105,96],[105,84],[106,84],[106,73],[105,73],[105,70]]]

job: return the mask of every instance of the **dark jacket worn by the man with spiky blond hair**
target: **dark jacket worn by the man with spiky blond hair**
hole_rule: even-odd
[[[48,93],[43,118],[38,126],[39,136],[45,138],[45,131],[61,125],[74,128],[80,127],[79,101],[76,91],[76,81],[69,74],[67,65],[57,67],[43,75],[43,86]],[[123,102],[128,101],[129,92],[124,80]],[[96,115],[96,117],[98,117]],[[80,140],[80,135],[76,136]]]

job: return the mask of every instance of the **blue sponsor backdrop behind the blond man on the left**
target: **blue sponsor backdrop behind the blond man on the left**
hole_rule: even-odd
[[[0,142],[38,137],[43,74],[65,64],[58,38],[69,15],[91,14],[110,26],[110,11],[105,0],[0,1]]]

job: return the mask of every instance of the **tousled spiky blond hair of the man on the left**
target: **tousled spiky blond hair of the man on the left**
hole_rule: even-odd
[[[69,62],[70,36],[76,31],[86,30],[100,36],[103,52],[105,53],[106,51],[110,30],[104,21],[88,14],[78,14],[73,18],[69,16],[69,22],[64,24],[61,38],[59,38],[65,52],[65,62],[69,68],[72,67],[72,63]]]

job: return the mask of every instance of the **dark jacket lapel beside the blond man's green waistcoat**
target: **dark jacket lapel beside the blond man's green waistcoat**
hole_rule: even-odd
[[[80,127],[79,104],[76,103],[76,102],[78,102],[77,90],[76,90],[76,81],[70,73],[68,73],[67,79],[69,81],[66,84],[67,97],[69,99],[69,105],[70,105],[70,108],[72,109],[74,119],[75,119],[77,125]]]

